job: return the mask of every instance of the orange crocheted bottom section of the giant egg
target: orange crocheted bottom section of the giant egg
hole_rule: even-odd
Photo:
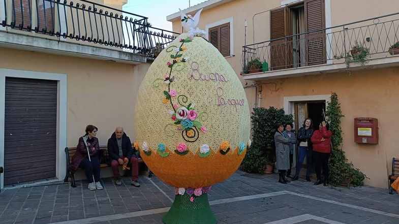
[[[189,151],[186,155],[169,152],[168,156],[161,156],[156,151],[150,155],[139,148],[140,155],[148,168],[162,181],[176,187],[199,188],[210,186],[229,178],[239,167],[247,153],[248,144],[239,153],[239,146],[226,154],[209,150],[206,157],[200,156],[200,150],[195,154]]]

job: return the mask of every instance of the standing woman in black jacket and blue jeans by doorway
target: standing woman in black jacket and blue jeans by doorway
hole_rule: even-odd
[[[297,180],[299,177],[300,169],[302,168],[303,161],[307,157],[308,168],[306,169],[306,181],[311,181],[310,174],[312,170],[312,142],[311,137],[313,135],[313,122],[311,118],[306,118],[303,121],[302,127],[298,131],[298,144],[299,144],[299,155],[298,163],[296,164],[295,176],[292,180]]]

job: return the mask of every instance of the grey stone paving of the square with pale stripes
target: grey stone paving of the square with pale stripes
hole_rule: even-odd
[[[375,187],[314,186],[304,180],[277,182],[277,175],[237,171],[212,186],[208,198],[218,223],[399,224],[399,196]],[[174,189],[157,177],[140,177],[141,187],[116,186],[102,179],[104,190],[86,182],[2,190],[0,224],[162,223]]]

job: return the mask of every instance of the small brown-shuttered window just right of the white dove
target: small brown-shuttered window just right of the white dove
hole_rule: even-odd
[[[230,56],[230,23],[225,23],[209,28],[209,42],[222,53]]]

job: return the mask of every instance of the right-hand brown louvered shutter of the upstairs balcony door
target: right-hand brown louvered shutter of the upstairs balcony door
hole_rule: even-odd
[[[305,0],[304,11],[306,31],[325,28],[324,0]],[[306,61],[309,66],[326,62],[325,30],[306,35]]]

